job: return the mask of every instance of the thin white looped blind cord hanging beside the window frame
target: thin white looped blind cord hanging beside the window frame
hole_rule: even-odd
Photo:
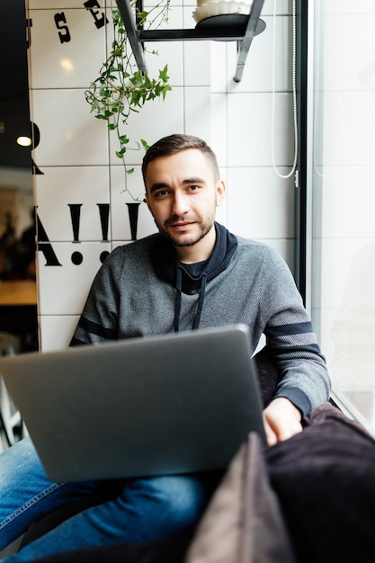
[[[297,85],[296,85],[296,0],[293,0],[293,42],[292,42],[292,84],[293,84],[293,121],[294,121],[294,162],[289,174],[281,174],[277,169],[274,157],[274,120],[275,120],[275,59],[276,59],[276,0],[273,0],[273,44],[272,44],[272,120],[271,120],[271,152],[273,169],[281,178],[290,178],[297,166],[299,150],[299,132],[297,124]]]

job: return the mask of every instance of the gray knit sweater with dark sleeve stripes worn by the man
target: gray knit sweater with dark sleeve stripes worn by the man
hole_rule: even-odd
[[[96,344],[174,331],[176,289],[156,275],[152,235],[112,251],[97,273],[72,345]],[[254,352],[262,334],[281,370],[276,397],[303,415],[330,394],[326,362],[302,299],[281,256],[270,246],[237,237],[229,264],[207,281],[200,328],[244,323]],[[179,296],[179,330],[191,330],[200,290]]]

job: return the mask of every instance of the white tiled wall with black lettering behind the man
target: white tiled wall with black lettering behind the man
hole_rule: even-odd
[[[111,20],[113,0],[98,0],[96,13],[76,0],[29,0],[31,28],[31,113],[40,129],[35,161],[43,174],[34,176],[40,221],[49,251],[58,264],[47,264],[39,253],[39,313],[41,348],[67,346],[83,307],[101,255],[130,241],[125,174],[115,156],[114,135],[94,119],[85,102],[85,88],[94,80],[105,51],[110,49],[112,25],[96,29],[95,18]],[[193,27],[194,0],[175,0],[171,28]],[[215,150],[228,197],[218,219],[246,237],[259,237],[293,263],[293,188],[272,169],[272,0],[266,0],[266,31],[254,38],[243,80],[235,84],[236,42],[192,41],[148,43],[158,56],[146,54],[151,76],[168,64],[172,92],[165,102],[148,103],[131,115],[130,139],[156,139],[187,132],[206,139]],[[70,41],[61,43],[54,16],[65,18]],[[277,94],[274,120],[275,158],[281,171],[293,159],[290,94],[291,2],[276,3]],[[62,15],[61,15],[62,14]],[[63,22],[62,22],[63,23]],[[61,23],[61,24],[62,24]],[[48,48],[46,48],[48,47]],[[144,187],[140,164],[143,149],[129,150],[129,191],[140,199]],[[108,205],[108,241],[103,241],[99,207]],[[73,206],[76,206],[73,208]],[[79,242],[70,210],[80,210]],[[76,219],[77,223],[77,219]],[[137,237],[155,232],[144,203],[138,207]]]

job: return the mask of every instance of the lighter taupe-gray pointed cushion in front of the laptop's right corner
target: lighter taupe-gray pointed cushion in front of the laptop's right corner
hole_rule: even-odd
[[[238,451],[203,515],[184,563],[293,563],[257,434]]]

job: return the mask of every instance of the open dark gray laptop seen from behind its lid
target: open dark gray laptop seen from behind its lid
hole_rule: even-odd
[[[0,358],[52,481],[226,469],[265,443],[247,327],[202,329]]]

